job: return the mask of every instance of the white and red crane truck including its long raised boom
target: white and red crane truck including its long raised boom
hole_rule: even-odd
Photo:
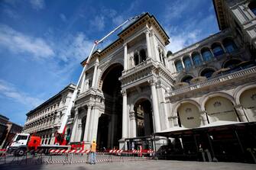
[[[86,66],[88,66],[89,61],[92,57],[92,53],[94,49],[96,48],[99,43],[102,43],[105,38],[109,37],[111,34],[113,34],[116,30],[127,24],[129,21],[133,21],[135,19],[141,18],[142,15],[145,13],[139,14],[135,17],[128,18],[128,20],[124,21],[122,24],[118,25],[118,27],[115,27],[114,30],[110,31],[109,34],[105,35],[101,40],[96,40],[93,43],[92,50],[89,53],[88,58],[86,59],[86,64],[83,66],[83,71],[81,72],[79,76],[79,80],[76,83],[76,88],[73,91],[73,95],[70,99],[70,104],[68,104],[66,108],[66,113],[63,114],[63,120],[61,122],[60,128],[55,133],[55,140],[54,145],[43,145],[41,144],[41,137],[40,136],[34,136],[34,134],[28,134],[28,133],[18,133],[16,134],[14,140],[11,142],[10,146],[8,146],[8,152],[12,152],[15,150],[15,155],[17,156],[23,156],[24,153],[27,150],[31,149],[45,149],[45,153],[49,151],[50,149],[68,149],[68,148],[77,148],[78,146],[72,145],[68,146],[65,140],[65,131],[66,131],[66,123],[68,121],[68,118],[70,117],[70,113],[73,107],[73,104],[75,102],[76,96],[79,93],[79,85],[81,83],[82,77],[85,79],[86,76]]]

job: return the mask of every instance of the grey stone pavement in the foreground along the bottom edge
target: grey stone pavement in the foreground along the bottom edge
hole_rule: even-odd
[[[220,169],[232,169],[232,170],[254,170],[256,169],[255,164],[245,163],[232,163],[232,162],[182,162],[182,161],[164,161],[164,160],[147,160],[147,161],[128,161],[128,162],[102,162],[96,165],[89,165],[86,163],[76,163],[72,165],[63,164],[51,164],[51,165],[0,165],[1,170],[24,170],[24,169],[35,169],[35,170],[90,170],[90,169],[170,169],[170,170],[220,170]]]

